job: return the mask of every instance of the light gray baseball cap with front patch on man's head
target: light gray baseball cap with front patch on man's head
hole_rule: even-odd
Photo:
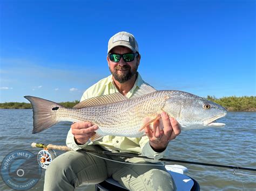
[[[130,48],[133,52],[139,52],[138,43],[134,36],[129,32],[123,31],[114,34],[114,36],[109,39],[107,53],[109,53],[110,50],[116,46],[125,46],[127,48]]]

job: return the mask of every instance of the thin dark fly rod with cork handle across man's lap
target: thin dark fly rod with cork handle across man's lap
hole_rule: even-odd
[[[47,149],[52,149],[52,150],[62,150],[62,151],[71,151],[71,148],[67,146],[60,146],[60,145],[44,145],[41,143],[32,143],[32,147],[38,147],[38,148],[47,148]],[[107,154],[107,155],[118,155],[120,157],[137,157],[137,158],[143,158],[143,159],[151,159],[152,158],[142,156],[139,154],[131,154],[131,153],[113,153],[110,151],[92,151],[92,150],[86,150],[83,149],[84,152],[89,152],[89,153],[98,153],[98,154]],[[158,159],[159,161],[166,161],[166,162],[179,162],[179,163],[185,163],[185,164],[193,164],[193,165],[203,165],[203,166],[214,166],[214,167],[220,167],[220,168],[231,168],[234,171],[241,169],[245,171],[256,171],[256,168],[247,168],[247,167],[240,167],[240,166],[230,166],[230,165],[218,165],[218,164],[209,164],[209,163],[204,163],[204,162],[194,162],[194,161],[186,161],[186,160],[175,160],[175,159]]]

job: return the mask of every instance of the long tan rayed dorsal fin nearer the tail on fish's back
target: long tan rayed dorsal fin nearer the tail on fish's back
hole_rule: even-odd
[[[75,109],[82,109],[87,107],[95,107],[99,105],[106,105],[110,103],[117,103],[120,101],[127,100],[128,98],[121,93],[113,93],[109,95],[102,95],[97,97],[91,97],[87,100],[84,100],[78,104],[76,104],[73,108]]]

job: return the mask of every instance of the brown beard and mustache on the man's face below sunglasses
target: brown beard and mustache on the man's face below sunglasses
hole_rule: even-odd
[[[110,69],[111,74],[114,76],[114,79],[116,79],[119,83],[127,82],[131,79],[131,77],[137,73],[138,65],[136,64],[136,67],[131,69],[129,65],[120,66],[117,65],[114,67],[113,70]],[[122,74],[118,74],[118,70],[127,70],[126,72],[123,72]]]

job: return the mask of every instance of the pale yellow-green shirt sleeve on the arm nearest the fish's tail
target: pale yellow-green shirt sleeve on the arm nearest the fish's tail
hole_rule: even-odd
[[[86,100],[87,95],[88,95],[87,91],[85,91],[80,101]],[[75,137],[72,134],[71,128],[70,128],[70,130],[68,132],[68,135],[66,136],[66,146],[68,146],[69,148],[71,148],[74,151],[77,151],[77,150],[80,150],[82,148],[85,148],[89,143],[90,143],[90,140],[87,143],[83,144],[83,145],[78,145],[75,142]]]

